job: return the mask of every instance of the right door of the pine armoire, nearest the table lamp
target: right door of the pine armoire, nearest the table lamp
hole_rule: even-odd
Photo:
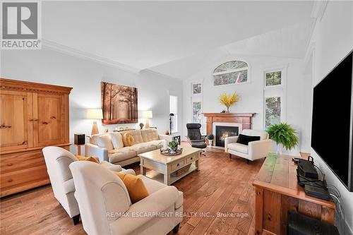
[[[65,141],[64,96],[33,94],[34,145],[57,145]]]

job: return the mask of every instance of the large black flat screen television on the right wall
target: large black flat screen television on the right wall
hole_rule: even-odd
[[[353,191],[353,51],[313,88],[311,147]]]

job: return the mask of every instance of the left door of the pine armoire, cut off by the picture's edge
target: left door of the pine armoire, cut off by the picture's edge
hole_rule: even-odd
[[[32,147],[32,93],[1,90],[1,151]]]

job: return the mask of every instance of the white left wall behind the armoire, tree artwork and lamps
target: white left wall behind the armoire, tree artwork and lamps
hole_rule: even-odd
[[[150,126],[156,126],[159,133],[169,130],[168,90],[179,94],[179,100],[182,95],[181,80],[148,71],[132,73],[50,49],[3,50],[1,52],[1,77],[72,87],[70,95],[71,143],[73,143],[74,133],[90,134],[92,120],[85,119],[85,112],[88,108],[101,107],[101,81],[137,87],[138,109],[152,110],[153,119],[150,120]],[[179,110],[182,110],[181,102],[179,102]],[[143,119],[139,120],[141,121],[145,122]],[[113,130],[117,126],[140,128],[138,123],[102,126],[99,122],[98,125],[100,132],[105,128]],[[76,150],[72,147],[71,151]]]

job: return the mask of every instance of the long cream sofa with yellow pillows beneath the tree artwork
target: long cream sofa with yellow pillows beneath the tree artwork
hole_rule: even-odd
[[[134,145],[124,146],[122,140],[124,133],[133,135]],[[90,143],[85,145],[85,155],[96,156],[100,161],[124,167],[139,162],[138,155],[140,153],[160,149],[164,142],[167,144],[171,138],[171,135],[159,135],[155,128],[97,134],[92,135]]]

